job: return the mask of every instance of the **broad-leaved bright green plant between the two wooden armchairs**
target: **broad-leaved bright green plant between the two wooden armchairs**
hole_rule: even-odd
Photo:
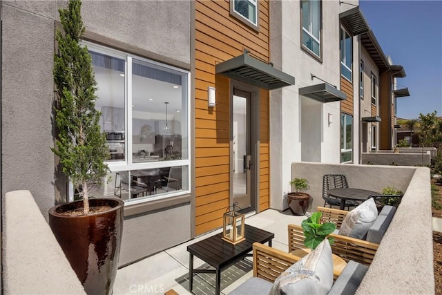
[[[302,220],[301,227],[304,229],[304,245],[310,249],[318,247],[329,234],[336,229],[333,222],[320,223],[320,218],[323,216],[321,212],[314,212],[306,220]],[[334,243],[334,238],[328,238],[330,245]]]

